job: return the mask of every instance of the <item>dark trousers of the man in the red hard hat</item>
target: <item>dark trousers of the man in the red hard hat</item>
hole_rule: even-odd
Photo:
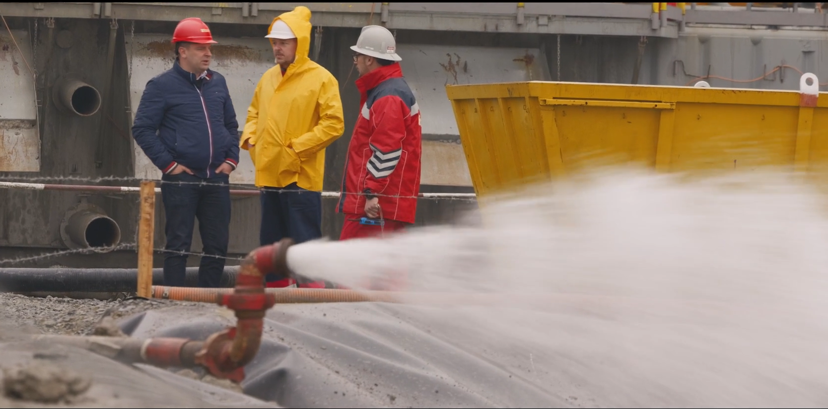
[[[204,253],[199,267],[198,286],[218,287],[224,272],[224,257],[227,257],[229,241],[229,176],[205,180],[181,172],[177,175],[164,175],[161,180],[166,182],[161,183],[161,200],[166,214],[164,285],[185,286],[187,254],[176,252],[190,253],[197,218]]]

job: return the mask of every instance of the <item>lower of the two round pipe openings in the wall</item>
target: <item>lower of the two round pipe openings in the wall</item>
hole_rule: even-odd
[[[89,248],[99,253],[121,243],[121,228],[96,208],[83,206],[65,219],[64,242],[70,248]]]

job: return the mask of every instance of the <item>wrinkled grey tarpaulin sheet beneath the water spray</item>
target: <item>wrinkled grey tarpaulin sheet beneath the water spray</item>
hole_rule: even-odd
[[[283,407],[579,406],[539,386],[526,345],[480,336],[463,313],[367,302],[277,305],[245,368],[244,392]],[[122,328],[138,338],[205,339],[233,321],[218,306],[173,307],[133,316]]]

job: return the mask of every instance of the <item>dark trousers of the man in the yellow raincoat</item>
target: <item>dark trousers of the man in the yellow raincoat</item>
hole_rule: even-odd
[[[322,237],[322,193],[305,190],[291,183],[283,188],[266,187],[262,200],[262,225],[259,242],[262,246],[282,238],[304,243]],[[267,281],[276,277],[268,275]]]

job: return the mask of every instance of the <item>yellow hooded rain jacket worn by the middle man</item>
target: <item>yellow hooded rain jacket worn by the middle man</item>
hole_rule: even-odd
[[[275,65],[262,75],[248,108],[240,147],[256,166],[256,185],[322,190],[325,147],[345,128],[339,82],[308,58],[310,10],[299,6],[281,19],[296,34],[296,60],[285,75]],[[267,28],[270,32],[270,27]]]

